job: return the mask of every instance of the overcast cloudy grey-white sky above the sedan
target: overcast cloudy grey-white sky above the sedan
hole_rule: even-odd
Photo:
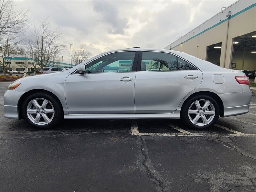
[[[128,47],[163,49],[171,42],[228,7],[236,0],[177,1],[15,1],[17,9],[29,9],[31,23],[49,18],[60,27],[70,62],[70,44],[87,45],[95,56]]]

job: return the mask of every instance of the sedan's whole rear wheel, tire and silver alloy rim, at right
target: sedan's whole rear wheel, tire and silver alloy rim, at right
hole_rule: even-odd
[[[198,95],[189,99],[181,111],[185,123],[197,130],[214,125],[220,115],[217,101],[208,95]]]

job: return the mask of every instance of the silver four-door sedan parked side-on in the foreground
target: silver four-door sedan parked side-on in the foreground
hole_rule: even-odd
[[[121,49],[68,71],[15,81],[4,94],[4,116],[36,128],[54,127],[63,118],[182,118],[206,129],[219,116],[249,111],[248,84],[239,70],[183,52]]]

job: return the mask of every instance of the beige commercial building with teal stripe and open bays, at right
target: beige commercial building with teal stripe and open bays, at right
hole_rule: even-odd
[[[228,69],[256,69],[256,0],[239,0],[164,49]]]

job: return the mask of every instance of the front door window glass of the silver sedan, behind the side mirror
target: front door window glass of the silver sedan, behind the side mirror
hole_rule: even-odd
[[[130,72],[135,52],[117,52],[103,56],[86,65],[85,73]]]

